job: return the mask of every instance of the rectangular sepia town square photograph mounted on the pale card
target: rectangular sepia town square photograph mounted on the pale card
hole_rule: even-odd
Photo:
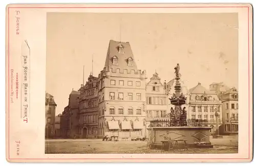
[[[46,14],[45,153],[239,153],[239,14]]]

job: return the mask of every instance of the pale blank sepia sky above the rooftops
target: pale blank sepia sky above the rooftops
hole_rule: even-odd
[[[188,88],[222,81],[238,88],[237,13],[48,13],[46,91],[54,96],[56,114],[82,84],[83,65],[85,83],[92,55],[98,76],[109,40],[120,39],[130,42],[148,80],[155,70],[162,82],[173,79],[179,63]]]

